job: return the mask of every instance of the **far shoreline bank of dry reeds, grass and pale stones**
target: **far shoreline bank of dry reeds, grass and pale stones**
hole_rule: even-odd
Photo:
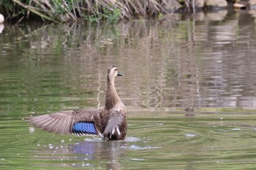
[[[24,19],[67,23],[89,20],[98,23],[107,20],[161,18],[177,12],[197,12],[206,7],[227,8],[226,0],[2,0],[0,13],[6,20]]]

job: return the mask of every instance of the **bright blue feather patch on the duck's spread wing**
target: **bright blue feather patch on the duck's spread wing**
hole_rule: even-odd
[[[73,133],[83,133],[83,134],[97,134],[97,130],[94,123],[79,122],[74,123],[72,128]]]

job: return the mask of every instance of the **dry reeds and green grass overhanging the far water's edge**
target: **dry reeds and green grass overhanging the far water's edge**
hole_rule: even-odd
[[[39,17],[53,22],[83,19],[99,22],[105,19],[110,23],[116,23],[124,18],[157,17],[159,13],[167,13],[166,6],[165,0],[2,0],[0,2],[0,10],[7,19]]]

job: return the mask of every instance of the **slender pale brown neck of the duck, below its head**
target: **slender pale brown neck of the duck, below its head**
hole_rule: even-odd
[[[107,109],[111,109],[116,106],[121,102],[121,99],[119,98],[117,92],[116,92],[116,87],[115,87],[115,82],[114,80],[109,80],[108,79],[108,86],[107,86],[107,93],[106,93],[106,98],[105,98],[105,107]]]

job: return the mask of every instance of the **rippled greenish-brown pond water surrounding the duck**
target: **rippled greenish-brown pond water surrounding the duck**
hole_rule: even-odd
[[[248,12],[116,25],[5,24],[0,169],[255,169],[256,24]],[[27,117],[104,104],[117,66],[124,141],[51,134]]]

